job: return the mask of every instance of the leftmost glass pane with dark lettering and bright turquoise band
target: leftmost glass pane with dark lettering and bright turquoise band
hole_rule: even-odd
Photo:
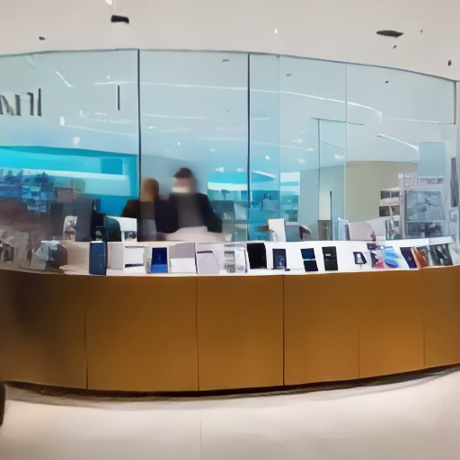
[[[0,57],[2,225],[62,237],[80,195],[137,197],[137,52]],[[91,199],[90,199],[91,203]]]

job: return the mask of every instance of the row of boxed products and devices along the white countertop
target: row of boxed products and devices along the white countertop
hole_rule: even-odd
[[[323,245],[326,243],[327,245]],[[104,243],[89,245],[89,273],[244,274],[257,270],[333,272],[410,270],[453,265],[448,238],[404,241],[303,243]],[[454,257],[453,257],[454,256]]]

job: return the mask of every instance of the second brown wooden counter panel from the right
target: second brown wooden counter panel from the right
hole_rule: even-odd
[[[346,298],[359,304],[359,377],[385,376],[424,367],[420,270],[361,273]]]

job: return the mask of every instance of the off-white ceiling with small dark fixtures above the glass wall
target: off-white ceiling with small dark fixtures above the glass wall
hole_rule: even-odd
[[[458,0],[0,0],[0,13],[0,54],[123,48],[252,51],[460,80]],[[128,15],[130,24],[111,24],[112,13]],[[403,36],[376,35],[383,29]]]

